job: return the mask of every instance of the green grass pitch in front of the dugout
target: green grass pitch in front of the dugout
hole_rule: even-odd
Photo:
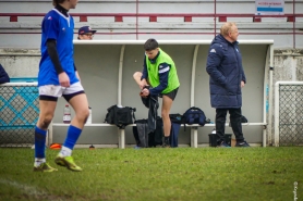
[[[303,148],[76,149],[81,173],[33,172],[34,150],[0,149],[0,200],[303,199]]]

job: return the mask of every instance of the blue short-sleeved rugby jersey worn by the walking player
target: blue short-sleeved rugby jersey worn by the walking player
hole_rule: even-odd
[[[77,83],[73,59],[74,20],[71,15],[64,16],[52,9],[43,20],[41,24],[41,60],[39,64],[38,86],[60,85],[59,76],[47,52],[47,40],[57,41],[57,52],[63,71],[70,77],[71,85]]]

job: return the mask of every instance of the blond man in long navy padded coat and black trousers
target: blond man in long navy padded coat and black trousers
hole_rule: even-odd
[[[241,124],[242,91],[246,77],[242,66],[242,56],[238,47],[238,27],[226,23],[220,34],[213,40],[206,71],[209,74],[210,102],[216,109],[216,135],[218,147],[229,147],[225,142],[225,124],[227,112],[237,138],[235,147],[250,147],[244,140]]]

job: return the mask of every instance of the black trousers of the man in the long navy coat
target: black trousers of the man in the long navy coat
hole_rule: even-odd
[[[237,141],[244,141],[241,124],[241,108],[240,109],[216,109],[216,135],[217,143],[225,141],[227,112],[230,114],[230,124]]]

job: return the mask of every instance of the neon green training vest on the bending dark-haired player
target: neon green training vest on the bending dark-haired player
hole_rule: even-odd
[[[146,60],[146,67],[148,72],[148,81],[152,85],[152,87],[157,87],[160,84],[159,80],[159,64],[161,63],[167,63],[170,65],[170,71],[169,71],[169,77],[168,77],[168,86],[165,90],[162,90],[161,93],[168,93],[174,89],[177,89],[180,86],[177,70],[174,62],[172,59],[159,48],[159,55],[156,60],[155,63],[150,63],[148,56],[145,56]]]

